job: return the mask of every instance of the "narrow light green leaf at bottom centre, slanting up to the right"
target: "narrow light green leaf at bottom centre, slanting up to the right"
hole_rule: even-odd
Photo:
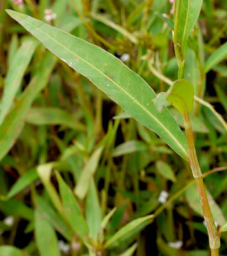
[[[119,229],[115,234],[113,234],[113,236],[106,241],[106,243],[104,244],[104,247],[105,248],[110,247],[110,245],[112,245],[114,242],[116,242],[126,234],[131,233],[131,236],[132,236],[134,230],[136,230],[136,232],[139,231],[136,229],[138,226],[144,223],[149,224],[152,218],[153,218],[153,215],[148,215],[146,217],[134,219],[133,221],[131,221],[131,223],[126,224],[125,226],[123,226],[123,228]]]

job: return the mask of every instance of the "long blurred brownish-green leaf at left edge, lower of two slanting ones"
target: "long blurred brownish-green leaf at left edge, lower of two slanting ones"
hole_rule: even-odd
[[[0,126],[0,160],[9,152],[24,126],[26,114],[37,94],[47,85],[56,57],[45,54],[39,70]]]

